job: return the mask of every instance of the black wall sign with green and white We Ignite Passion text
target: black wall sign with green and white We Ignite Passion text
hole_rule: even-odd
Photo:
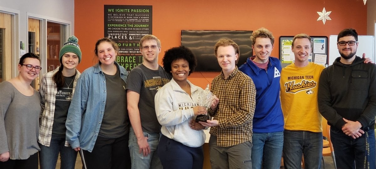
[[[153,6],[105,5],[105,37],[119,46],[116,58],[127,71],[143,62],[139,41],[152,34]]]

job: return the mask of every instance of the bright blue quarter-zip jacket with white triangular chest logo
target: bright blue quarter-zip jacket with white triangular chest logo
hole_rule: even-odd
[[[253,132],[271,133],[284,131],[284,117],[280,103],[281,63],[276,57],[269,57],[267,71],[260,69],[252,60],[239,67],[239,70],[252,78],[256,86],[256,109],[253,117]],[[251,60],[252,59],[252,60]]]

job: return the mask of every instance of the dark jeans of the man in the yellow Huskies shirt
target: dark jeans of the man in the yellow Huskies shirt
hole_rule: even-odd
[[[286,169],[300,168],[304,156],[306,169],[321,167],[323,133],[311,131],[284,131],[283,159]]]

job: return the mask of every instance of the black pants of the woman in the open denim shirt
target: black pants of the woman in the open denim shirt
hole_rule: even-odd
[[[116,139],[99,137],[92,152],[83,150],[87,169],[130,169],[129,133]]]

